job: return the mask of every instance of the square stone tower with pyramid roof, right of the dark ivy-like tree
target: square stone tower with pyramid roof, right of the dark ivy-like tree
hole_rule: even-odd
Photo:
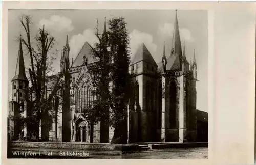
[[[129,138],[137,142],[154,141],[156,137],[152,134],[156,134],[154,123],[156,123],[157,64],[144,43],[140,45],[129,68],[132,86],[135,89],[134,96],[131,96],[135,100],[130,101],[131,112],[134,113],[131,115],[133,134],[129,132]]]

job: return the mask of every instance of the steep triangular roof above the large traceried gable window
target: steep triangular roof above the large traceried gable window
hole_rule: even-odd
[[[88,58],[88,64],[96,62],[96,59],[92,54],[93,51],[94,50],[92,46],[88,42],[84,43],[84,45],[82,46],[80,52],[77,54],[71,67],[81,66],[83,63],[84,55]]]

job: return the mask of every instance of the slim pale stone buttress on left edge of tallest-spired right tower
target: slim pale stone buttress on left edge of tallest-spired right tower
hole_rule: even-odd
[[[165,77],[162,76],[162,125],[161,125],[161,141],[165,142]]]

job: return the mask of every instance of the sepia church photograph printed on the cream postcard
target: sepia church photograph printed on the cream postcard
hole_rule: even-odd
[[[8,158],[207,159],[208,11],[8,10]]]

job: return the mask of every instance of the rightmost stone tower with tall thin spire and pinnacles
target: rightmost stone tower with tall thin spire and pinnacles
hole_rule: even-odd
[[[193,132],[196,123],[195,83],[189,71],[186,59],[185,42],[183,53],[181,48],[179,24],[176,17],[174,23],[173,42],[170,56],[163,55],[161,70],[162,84],[162,126],[161,141],[186,142],[194,141]],[[165,50],[164,50],[165,52]],[[187,134],[189,128],[189,136]],[[188,140],[188,139],[189,140]]]

